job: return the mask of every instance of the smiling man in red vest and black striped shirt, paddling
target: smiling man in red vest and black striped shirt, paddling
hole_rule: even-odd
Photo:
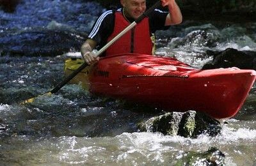
[[[182,14],[175,0],[160,1],[162,6],[168,6],[169,12],[152,11],[148,17],[111,45],[104,56],[127,52],[154,54],[152,38],[156,30],[168,29],[169,26],[182,22]],[[99,57],[95,56],[92,50],[106,45],[146,10],[146,0],[120,0],[120,3],[123,6],[122,9],[105,11],[93,25],[88,39],[81,47],[81,54],[86,63],[93,64],[99,61]]]

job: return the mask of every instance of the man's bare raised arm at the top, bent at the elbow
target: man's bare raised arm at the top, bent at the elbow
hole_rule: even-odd
[[[175,0],[161,0],[161,2],[162,6],[168,6],[169,9],[164,26],[180,24],[182,22],[182,14]]]

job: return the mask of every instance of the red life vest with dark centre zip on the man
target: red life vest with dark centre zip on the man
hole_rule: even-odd
[[[108,41],[115,38],[117,34],[129,26],[122,13],[115,12],[115,27],[113,33],[109,36]],[[106,50],[106,56],[122,53],[137,53],[152,55],[153,43],[150,38],[150,29],[148,18],[141,20],[133,29],[125,33],[113,45]]]

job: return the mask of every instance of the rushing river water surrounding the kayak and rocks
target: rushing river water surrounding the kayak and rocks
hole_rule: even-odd
[[[77,16],[81,8],[88,11]],[[17,21],[1,26],[1,33],[13,26],[47,26],[52,20],[88,32],[103,10],[94,3],[81,7],[70,1],[25,1],[15,13],[1,11],[2,18]],[[68,14],[76,17],[65,20]],[[206,50],[256,51],[256,22],[184,19],[182,25],[157,33],[158,55],[201,68],[212,60]],[[51,96],[38,96],[61,82],[66,58],[0,56],[0,165],[175,165],[189,151],[204,152],[213,146],[225,154],[226,165],[256,165],[255,86],[239,113],[221,124],[216,137],[140,133],[136,123],[156,112],[128,109],[118,100],[92,96],[70,84]],[[20,104],[31,96],[38,96],[35,102]]]

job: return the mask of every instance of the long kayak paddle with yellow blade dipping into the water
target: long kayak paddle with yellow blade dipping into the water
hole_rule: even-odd
[[[136,24],[138,24],[138,22],[140,22],[145,17],[147,17],[149,13],[151,13],[153,10],[155,10],[155,8],[159,7],[160,5],[161,5],[161,2],[158,0],[157,3],[155,3],[147,11],[145,11],[145,13],[143,13],[143,15],[141,15],[138,19],[136,19],[134,22],[132,22],[122,32],[120,32],[118,35],[116,35],[115,38],[113,38],[104,47],[102,47],[96,53],[96,56],[99,56],[100,54],[105,52],[106,49],[108,49],[108,47],[110,47],[113,43],[115,43],[115,41],[117,41],[119,38],[121,38],[125,33],[127,33],[127,31],[131,30],[134,26],[136,26]],[[67,84],[71,79],[73,79],[77,75],[77,73],[81,72],[81,70],[83,70],[86,66],[88,66],[88,64],[86,64],[86,63],[81,64],[81,66],[79,66],[79,68],[77,68],[77,70],[75,70],[70,75],[68,75],[68,77],[66,77],[63,81],[61,81],[56,87],[54,87],[54,89],[52,89],[50,92],[42,94],[42,95],[49,95],[50,96],[52,93],[56,93],[58,90],[61,89],[61,87],[65,86],[65,84]],[[22,103],[32,103],[34,100],[35,100],[35,98],[30,98],[28,100],[25,100]]]

